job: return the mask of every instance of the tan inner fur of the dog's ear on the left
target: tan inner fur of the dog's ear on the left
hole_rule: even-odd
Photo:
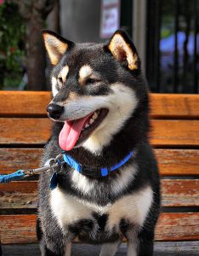
[[[48,33],[43,33],[43,39],[51,63],[57,65],[65,50],[68,49],[68,44]]]

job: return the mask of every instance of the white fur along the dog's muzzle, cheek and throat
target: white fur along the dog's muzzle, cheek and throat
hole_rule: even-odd
[[[112,137],[122,129],[125,121],[134,113],[138,99],[134,90],[124,84],[111,84],[112,92],[106,96],[79,96],[75,101],[64,105],[65,111],[60,120],[81,119],[99,108],[108,108],[109,113],[94,130],[88,140],[82,143],[94,154],[111,142]]]

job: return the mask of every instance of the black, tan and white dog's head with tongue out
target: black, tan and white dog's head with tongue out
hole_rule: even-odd
[[[75,44],[46,30],[43,39],[54,66],[48,116],[64,122],[60,148],[98,153],[133,116],[146,91],[134,44],[122,31],[108,44]]]

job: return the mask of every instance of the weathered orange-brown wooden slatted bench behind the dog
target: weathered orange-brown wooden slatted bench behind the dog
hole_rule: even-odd
[[[45,110],[49,99],[49,92],[0,92],[2,174],[39,166],[50,136],[51,123]],[[199,95],[151,94],[151,126],[151,143],[162,176],[162,214],[156,226],[155,255],[196,255]],[[0,184],[0,196],[4,255],[39,255],[35,231],[37,177]],[[89,247],[75,245],[72,255],[80,251],[81,255],[96,255],[99,247],[90,249],[93,254],[88,253]],[[124,247],[117,255],[124,255]]]

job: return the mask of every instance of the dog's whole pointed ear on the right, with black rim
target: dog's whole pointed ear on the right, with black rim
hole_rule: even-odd
[[[125,32],[121,30],[115,32],[109,44],[105,45],[105,49],[110,50],[115,59],[122,65],[128,66],[131,71],[140,70],[137,50]]]

